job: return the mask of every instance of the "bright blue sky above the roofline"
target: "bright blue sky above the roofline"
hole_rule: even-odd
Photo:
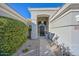
[[[9,3],[9,7],[14,9],[20,15],[25,18],[30,18],[31,15],[28,11],[28,8],[55,8],[62,7],[64,3]]]

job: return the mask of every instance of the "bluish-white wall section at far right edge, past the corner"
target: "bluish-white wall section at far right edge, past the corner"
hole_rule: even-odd
[[[72,24],[78,25],[77,29],[75,29],[76,26],[72,28],[71,48],[75,55],[79,55],[79,22],[76,21],[77,15],[79,15],[79,11],[72,12]]]

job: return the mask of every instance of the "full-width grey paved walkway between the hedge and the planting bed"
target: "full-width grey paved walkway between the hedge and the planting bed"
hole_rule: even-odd
[[[28,48],[30,51],[23,53],[22,51]],[[15,56],[53,56],[54,54],[49,49],[47,39],[39,38],[36,40],[28,40],[14,54]]]

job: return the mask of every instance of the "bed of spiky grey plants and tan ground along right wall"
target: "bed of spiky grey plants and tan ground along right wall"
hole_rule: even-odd
[[[50,47],[53,48],[53,52],[57,56],[73,56],[69,47],[65,47],[64,43],[58,43],[59,36],[55,33],[48,32],[48,42]]]

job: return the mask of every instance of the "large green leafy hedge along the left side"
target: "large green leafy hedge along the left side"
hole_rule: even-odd
[[[8,17],[0,16],[0,55],[12,55],[27,40],[28,27]]]

